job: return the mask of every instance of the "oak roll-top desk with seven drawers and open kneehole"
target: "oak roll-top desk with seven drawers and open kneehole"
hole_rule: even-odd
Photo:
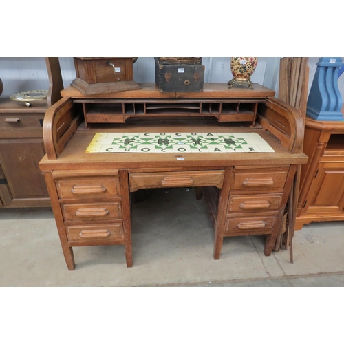
[[[46,155],[39,166],[68,269],[75,268],[74,246],[111,244],[125,246],[132,266],[131,193],[152,188],[202,189],[215,227],[214,259],[223,237],[236,235],[266,235],[264,254],[270,255],[295,171],[308,160],[299,110],[257,84],[228,89],[226,83],[205,83],[203,92],[193,93],[161,93],[155,83],[140,87],[85,96],[70,86],[45,114]],[[180,146],[161,153],[86,153],[102,133],[230,133],[257,136],[270,150],[204,153]]]

